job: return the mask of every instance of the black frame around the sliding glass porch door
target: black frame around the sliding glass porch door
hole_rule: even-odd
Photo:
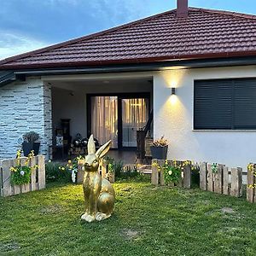
[[[87,137],[90,137],[91,134],[91,101],[92,96],[117,96],[118,97],[118,150],[134,150],[133,147],[123,147],[122,138],[123,138],[123,120],[122,120],[122,100],[123,99],[137,99],[145,98],[148,99],[148,117],[151,111],[151,93],[150,92],[134,92],[134,93],[93,93],[87,94],[86,96],[86,105],[87,105]]]

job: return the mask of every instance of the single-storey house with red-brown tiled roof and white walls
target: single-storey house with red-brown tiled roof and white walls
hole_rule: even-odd
[[[247,166],[256,158],[256,16],[177,9],[0,61],[0,156],[25,131],[49,155],[55,128],[119,150],[154,113],[178,160]],[[175,88],[175,90],[172,90]]]

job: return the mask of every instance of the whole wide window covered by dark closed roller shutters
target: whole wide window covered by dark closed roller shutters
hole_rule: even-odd
[[[195,130],[256,129],[256,79],[195,81]]]

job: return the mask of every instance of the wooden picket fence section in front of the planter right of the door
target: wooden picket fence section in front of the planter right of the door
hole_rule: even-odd
[[[172,166],[173,165],[173,161],[168,160],[168,165]],[[178,165],[182,164],[182,161],[176,161]],[[151,175],[151,183],[153,185],[160,185],[160,186],[164,186],[166,185],[165,183],[165,177],[164,177],[164,172],[163,170],[160,168],[158,168],[158,166],[163,166],[165,164],[165,160],[152,160],[152,175]],[[180,181],[180,183],[177,184],[168,184],[170,186],[177,186],[177,187],[183,187],[186,189],[190,189],[191,188],[191,166],[186,165],[183,167],[183,171],[182,171],[182,180]]]

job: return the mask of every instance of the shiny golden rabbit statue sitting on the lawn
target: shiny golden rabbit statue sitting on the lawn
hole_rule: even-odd
[[[96,152],[93,136],[88,141],[88,155],[84,161],[84,201],[85,213],[82,219],[87,222],[109,218],[113,212],[115,193],[111,183],[98,172],[99,161],[108,153],[111,141]]]

